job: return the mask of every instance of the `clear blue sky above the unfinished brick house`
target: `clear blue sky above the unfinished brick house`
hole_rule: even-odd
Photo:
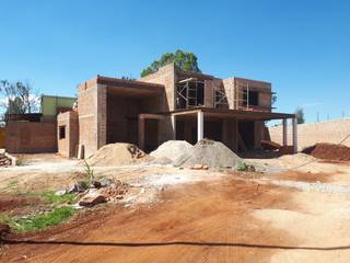
[[[350,1],[0,0],[0,79],[74,95],[96,75],[138,78],[165,52],[203,72],[271,81],[277,110],[350,116]]]

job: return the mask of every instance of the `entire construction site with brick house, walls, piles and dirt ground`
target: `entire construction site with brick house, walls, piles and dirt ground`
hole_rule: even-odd
[[[0,262],[348,262],[350,119],[273,94],[170,64],[10,115]]]

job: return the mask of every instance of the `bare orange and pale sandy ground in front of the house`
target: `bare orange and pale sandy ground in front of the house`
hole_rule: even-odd
[[[1,192],[58,190],[82,176],[78,161],[27,159],[0,169]],[[349,163],[247,161],[267,172],[95,168],[144,191],[40,233],[12,235],[0,262],[349,262]]]

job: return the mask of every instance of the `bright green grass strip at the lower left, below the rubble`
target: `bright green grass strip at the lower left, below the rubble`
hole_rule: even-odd
[[[0,222],[8,224],[11,229],[18,232],[40,231],[67,221],[74,214],[75,210],[71,207],[57,207],[45,215],[34,215],[26,218],[9,217],[2,214],[0,215]]]

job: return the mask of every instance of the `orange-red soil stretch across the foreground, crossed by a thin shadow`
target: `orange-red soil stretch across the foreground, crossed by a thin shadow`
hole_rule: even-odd
[[[296,240],[250,210],[295,209],[289,193],[233,179],[170,187],[152,206],[102,206],[42,233],[12,236],[3,262],[268,262]]]

